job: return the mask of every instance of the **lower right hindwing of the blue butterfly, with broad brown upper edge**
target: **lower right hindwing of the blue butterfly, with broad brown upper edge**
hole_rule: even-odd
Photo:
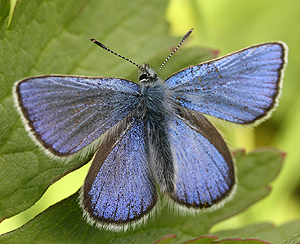
[[[228,148],[212,124],[198,112],[181,108],[170,120],[175,155],[175,191],[181,205],[206,208],[230,196],[235,184]]]

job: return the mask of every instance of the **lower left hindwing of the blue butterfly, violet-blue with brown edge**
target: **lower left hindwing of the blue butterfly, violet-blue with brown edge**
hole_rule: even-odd
[[[81,200],[88,220],[115,228],[141,219],[157,199],[146,157],[144,123],[133,118],[120,124],[123,125],[103,139],[83,185]]]

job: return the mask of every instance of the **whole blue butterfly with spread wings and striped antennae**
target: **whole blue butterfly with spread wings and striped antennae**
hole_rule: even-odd
[[[286,60],[286,45],[269,42],[187,67],[165,81],[157,72],[166,61],[155,72],[128,60],[140,70],[138,84],[51,75],[17,82],[14,94],[26,127],[51,155],[67,158],[97,146],[80,204],[89,222],[120,230],[147,218],[158,189],[187,210],[217,208],[232,197],[231,154],[203,114],[237,124],[268,117]]]

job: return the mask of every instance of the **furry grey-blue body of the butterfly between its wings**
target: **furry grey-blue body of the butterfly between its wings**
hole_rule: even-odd
[[[143,106],[147,129],[145,140],[148,162],[153,170],[160,190],[164,193],[174,191],[174,163],[168,135],[168,116],[170,109],[166,101],[165,85],[157,80],[142,84]]]

